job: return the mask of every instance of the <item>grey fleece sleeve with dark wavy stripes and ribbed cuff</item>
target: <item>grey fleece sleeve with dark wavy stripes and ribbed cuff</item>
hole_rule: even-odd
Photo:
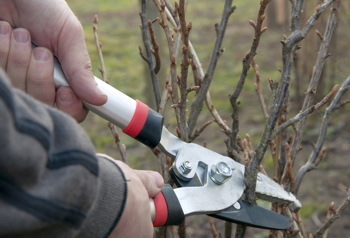
[[[11,88],[0,69],[1,237],[107,237],[126,191],[72,118]]]

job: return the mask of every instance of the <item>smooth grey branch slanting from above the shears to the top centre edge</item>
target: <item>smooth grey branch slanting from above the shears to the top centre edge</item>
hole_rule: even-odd
[[[195,97],[191,105],[191,112],[189,114],[188,121],[187,121],[188,135],[191,135],[194,130],[194,126],[197,121],[198,115],[203,107],[203,102],[206,98],[206,95],[216,68],[217,61],[221,55],[220,49],[221,49],[223,36],[226,31],[228,18],[235,9],[235,7],[231,7],[231,5],[232,5],[232,0],[225,0],[220,26],[218,26],[218,24],[215,25],[216,40],[215,40],[214,48],[211,53],[208,69],[203,78],[203,83],[199,89],[198,95]]]

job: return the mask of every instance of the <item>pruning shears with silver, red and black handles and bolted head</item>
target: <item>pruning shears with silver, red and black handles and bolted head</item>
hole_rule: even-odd
[[[96,77],[95,81],[108,100],[102,106],[83,102],[85,108],[174,159],[169,173],[177,188],[165,184],[150,199],[154,226],[178,225],[185,216],[194,214],[265,229],[291,226],[292,219],[240,198],[244,192],[244,165],[200,145],[183,142],[163,126],[163,116]],[[56,58],[54,83],[56,89],[70,86]],[[293,211],[301,207],[294,195],[261,173],[257,175],[255,194],[260,199],[287,205]]]

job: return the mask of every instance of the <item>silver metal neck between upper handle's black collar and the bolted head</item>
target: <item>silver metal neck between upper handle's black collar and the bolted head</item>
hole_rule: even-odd
[[[171,134],[165,126],[163,126],[160,141],[158,143],[158,148],[161,152],[174,159],[177,151],[185,144],[187,143]]]

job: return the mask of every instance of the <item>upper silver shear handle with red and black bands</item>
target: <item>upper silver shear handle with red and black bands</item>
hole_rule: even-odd
[[[31,44],[32,49],[35,47],[34,44]],[[97,77],[94,79],[107,95],[107,102],[101,106],[82,102],[83,106],[148,147],[157,146],[161,137],[164,117],[148,108],[144,103],[133,100]],[[56,57],[54,57],[53,81],[56,90],[62,86],[70,87]]]

